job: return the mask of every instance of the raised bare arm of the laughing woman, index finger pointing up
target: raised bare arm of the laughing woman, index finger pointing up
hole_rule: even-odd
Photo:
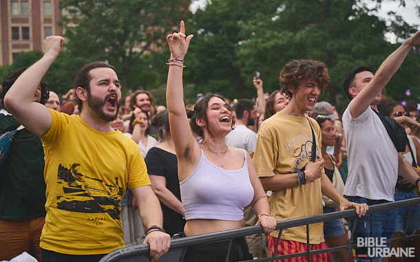
[[[180,32],[167,35],[171,58],[169,59],[166,101],[169,113],[169,126],[171,128],[171,136],[175,143],[176,155],[178,162],[183,163],[178,166],[184,166],[186,162],[198,162],[194,158],[191,159],[191,156],[195,155],[191,152],[194,147],[196,147],[196,150],[200,147],[189,127],[184,104],[184,90],[182,87],[182,71],[184,67],[182,61],[184,60],[185,54],[187,54],[189,42],[192,38],[192,34],[189,36],[185,35],[184,21],[180,23]],[[182,173],[185,172],[179,172],[180,175]],[[180,177],[180,181],[183,178],[185,177]]]

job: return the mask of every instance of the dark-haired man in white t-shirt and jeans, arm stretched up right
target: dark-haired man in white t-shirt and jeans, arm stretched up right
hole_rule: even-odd
[[[375,76],[369,67],[359,66],[343,81],[344,91],[351,99],[342,117],[348,153],[348,177],[344,196],[349,201],[366,203],[369,206],[394,201],[398,173],[405,174],[405,178],[412,184],[420,184],[419,175],[403,160],[401,153],[397,152],[384,124],[375,113],[381,101],[382,89],[397,72],[412,47],[419,44],[420,32],[417,32],[386,58]],[[372,232],[369,226],[370,215],[357,220],[353,232],[354,243],[361,237],[392,238],[396,210],[373,213]],[[354,218],[350,217],[349,222],[352,228]],[[359,261],[371,259],[368,257],[368,248],[356,248],[356,254]],[[381,261],[379,256],[372,259]]]

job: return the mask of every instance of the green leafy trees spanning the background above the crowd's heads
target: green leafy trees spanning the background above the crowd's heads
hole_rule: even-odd
[[[404,0],[387,1],[405,5]],[[253,98],[256,70],[261,72],[264,91],[271,93],[279,89],[280,69],[288,61],[305,58],[328,66],[330,87],[319,99],[344,109],[348,100],[342,79],[350,69],[359,64],[377,69],[416,30],[394,12],[388,21],[379,19],[375,10],[383,0],[372,2],[367,6],[364,0],[208,0],[191,14],[191,0],[61,0],[67,12],[61,21],[65,51],[45,78],[52,90],[64,94],[82,65],[107,60],[116,67],[125,94],[143,87],[151,91],[156,104],[165,105],[169,56],[165,36],[177,31],[183,19],[187,34],[194,34],[184,71],[187,104],[196,100],[196,94],[207,92],[230,99]],[[397,43],[386,38],[390,34]],[[21,54],[12,66],[0,68],[0,76],[30,66],[41,55]],[[386,87],[388,96],[419,101],[419,69],[417,50]]]

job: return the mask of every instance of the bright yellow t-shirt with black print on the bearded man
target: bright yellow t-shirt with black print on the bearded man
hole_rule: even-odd
[[[63,254],[106,254],[123,248],[120,201],[125,189],[150,184],[145,161],[120,131],[103,133],[50,109],[41,136],[47,184],[41,248]]]

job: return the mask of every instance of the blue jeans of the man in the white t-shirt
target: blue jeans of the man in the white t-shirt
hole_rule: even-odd
[[[366,203],[368,206],[389,203],[389,201],[386,200],[367,199],[364,197],[348,197],[346,195],[344,197],[346,197],[348,201],[359,204]],[[370,216],[372,216],[372,231],[370,230]],[[354,222],[355,217],[348,217],[349,230],[353,230]],[[374,213],[367,213],[363,217],[358,217],[355,232],[352,232],[353,244],[357,244],[357,239],[361,237],[374,237],[375,239],[385,237],[387,240],[392,239],[395,233],[396,223],[397,209],[388,209]],[[390,248],[390,243],[386,243],[386,247]],[[367,247],[357,247],[355,250],[357,261],[370,261],[368,254],[372,254],[372,249]],[[381,257],[373,256],[372,261],[381,261]]]

